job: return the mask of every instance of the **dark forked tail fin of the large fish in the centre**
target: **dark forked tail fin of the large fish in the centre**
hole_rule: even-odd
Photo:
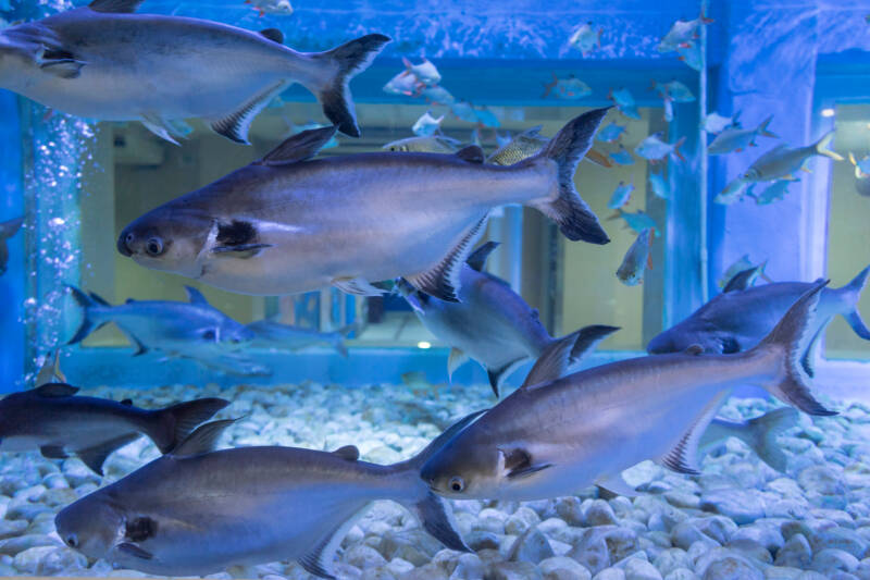
[[[591,244],[607,244],[610,238],[605,233],[598,218],[574,188],[574,172],[577,163],[588,152],[593,137],[598,131],[609,107],[595,109],[570,121],[550,139],[535,158],[551,159],[558,165],[558,195],[536,199],[531,205],[547,218],[559,224],[562,234],[569,239],[582,239]]]

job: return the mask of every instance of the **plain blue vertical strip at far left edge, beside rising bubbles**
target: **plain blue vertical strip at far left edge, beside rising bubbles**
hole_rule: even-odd
[[[22,190],[22,141],[17,97],[0,90],[0,222],[24,214]],[[25,227],[27,223],[25,222]],[[25,332],[24,237],[21,231],[9,240],[9,269],[0,276],[0,392],[23,385]]]

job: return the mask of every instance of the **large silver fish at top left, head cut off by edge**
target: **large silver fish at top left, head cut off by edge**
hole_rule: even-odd
[[[134,14],[142,0],[88,7],[0,32],[0,87],[89,119],[141,121],[181,136],[171,121],[199,118],[248,141],[254,116],[294,83],[313,92],[343,133],[359,136],[348,82],[389,38],[363,36],[326,52],[296,52],[279,30]]]

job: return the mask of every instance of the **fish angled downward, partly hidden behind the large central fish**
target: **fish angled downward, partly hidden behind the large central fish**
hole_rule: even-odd
[[[468,259],[459,274],[458,303],[428,296],[401,281],[398,288],[423,325],[451,347],[448,374],[452,375],[472,358],[486,369],[489,385],[499,396],[499,388],[508,377],[520,366],[540,357],[557,340],[540,323],[537,310],[508,283],[484,272],[486,258],[496,246],[487,242]],[[577,331],[583,341],[575,350],[574,362],[580,362],[595,345],[617,330],[593,325]]]

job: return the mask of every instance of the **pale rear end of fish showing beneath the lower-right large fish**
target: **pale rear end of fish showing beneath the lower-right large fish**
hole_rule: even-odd
[[[738,439],[755,452],[759,459],[780,472],[788,467],[788,457],[782,451],[778,437],[797,427],[800,415],[792,407],[780,407],[748,421],[713,419],[698,443],[698,452],[706,455],[722,446],[730,437]]]

